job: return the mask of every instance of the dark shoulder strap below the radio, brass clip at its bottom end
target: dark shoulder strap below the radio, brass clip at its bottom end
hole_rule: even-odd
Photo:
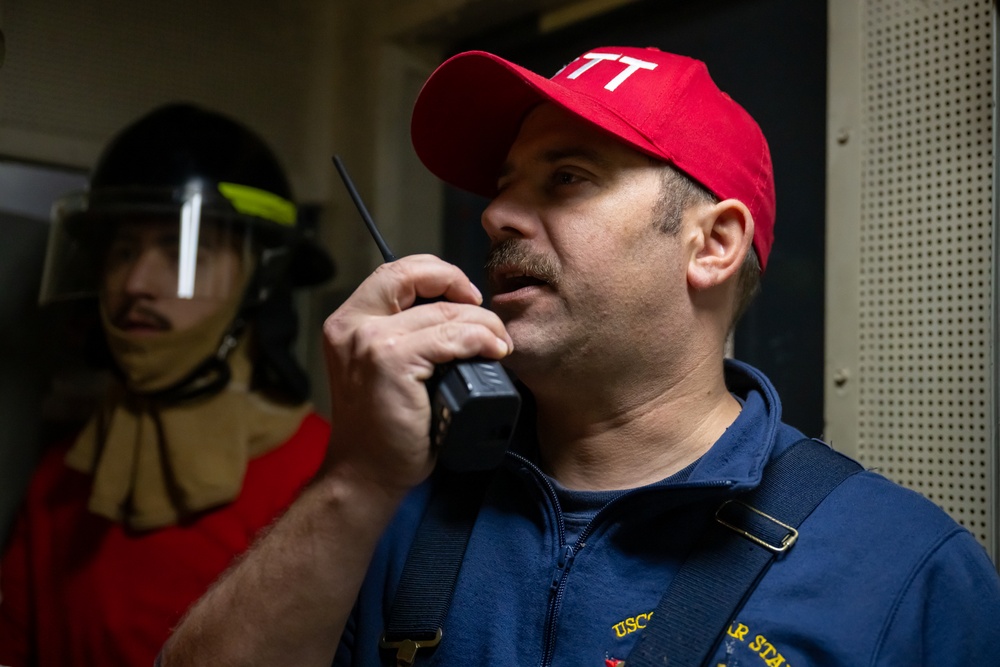
[[[421,648],[441,641],[465,547],[492,471],[435,473],[434,489],[410,546],[379,647],[396,651],[395,665],[409,667]]]

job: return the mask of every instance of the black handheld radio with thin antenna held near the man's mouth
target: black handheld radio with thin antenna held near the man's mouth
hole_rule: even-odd
[[[333,163],[382,258],[395,261],[340,157],[334,155]],[[414,305],[438,300],[418,299]],[[500,362],[475,357],[439,364],[426,384],[431,399],[431,446],[441,465],[457,472],[500,465],[521,409],[521,395]]]

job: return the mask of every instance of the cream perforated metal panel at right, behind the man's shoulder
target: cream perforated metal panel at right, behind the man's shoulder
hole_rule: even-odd
[[[991,0],[863,10],[859,441],[991,546]]]

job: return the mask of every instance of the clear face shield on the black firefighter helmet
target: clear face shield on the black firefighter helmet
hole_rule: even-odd
[[[73,193],[52,224],[39,301],[97,296],[116,324],[189,326],[239,298],[254,268],[253,226],[199,189]]]

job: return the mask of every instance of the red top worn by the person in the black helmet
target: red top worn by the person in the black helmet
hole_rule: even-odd
[[[232,503],[181,525],[129,531],[87,510],[90,477],[47,452],[0,566],[0,665],[148,667],[187,608],[319,467],[315,413],[250,461]]]

